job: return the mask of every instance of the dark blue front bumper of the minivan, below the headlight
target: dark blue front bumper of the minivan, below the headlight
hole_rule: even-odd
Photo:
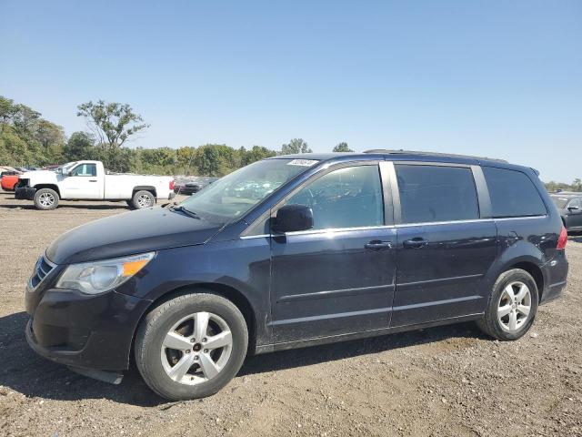
[[[26,291],[30,347],[48,360],[83,369],[123,371],[137,323],[149,300],[115,291],[87,296],[75,290]]]

